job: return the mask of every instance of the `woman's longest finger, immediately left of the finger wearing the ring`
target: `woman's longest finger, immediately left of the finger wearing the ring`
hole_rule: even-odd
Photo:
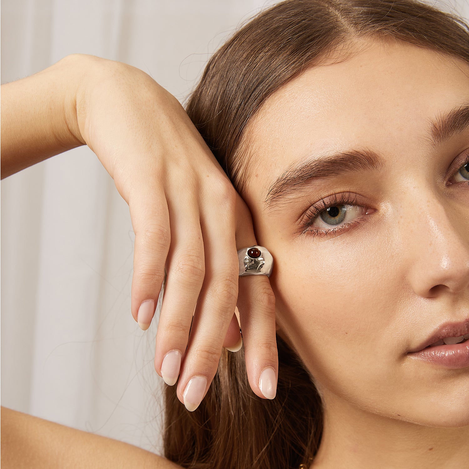
[[[180,401],[191,411],[198,407],[215,376],[238,297],[234,204],[233,189],[211,197],[211,203],[204,201],[205,210],[201,210],[205,278],[177,390]]]

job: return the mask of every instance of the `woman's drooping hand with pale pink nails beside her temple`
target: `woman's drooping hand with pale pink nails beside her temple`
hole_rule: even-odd
[[[97,57],[65,60],[81,60],[90,70],[78,86],[77,119],[69,128],[129,204],[131,308],[142,329],[153,318],[166,267],[156,371],[169,385],[181,373],[178,397],[189,410],[197,408],[222,347],[241,341],[237,304],[250,386],[273,399],[274,295],[266,276],[238,277],[237,249],[257,244],[246,204],[180,103],[150,76]]]

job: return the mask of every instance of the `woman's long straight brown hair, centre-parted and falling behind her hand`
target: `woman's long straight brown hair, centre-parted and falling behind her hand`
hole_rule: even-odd
[[[256,15],[208,62],[187,112],[242,193],[248,152],[243,132],[265,100],[354,38],[401,40],[469,62],[469,26],[416,0],[287,0]],[[277,336],[273,401],[257,397],[244,353],[223,349],[207,395],[194,412],[166,387],[164,454],[185,468],[298,469],[322,435],[321,399],[295,352]]]

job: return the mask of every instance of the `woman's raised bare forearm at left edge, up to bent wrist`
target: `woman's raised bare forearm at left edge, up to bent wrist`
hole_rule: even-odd
[[[1,85],[1,178],[85,143],[78,131],[76,94],[97,60],[69,55]]]

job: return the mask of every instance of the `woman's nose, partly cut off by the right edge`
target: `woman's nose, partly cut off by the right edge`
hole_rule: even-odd
[[[414,200],[412,206],[416,210],[410,218],[411,229],[406,230],[408,279],[412,288],[423,297],[433,297],[445,290],[466,291],[469,295],[467,207],[435,194],[427,194],[421,202]]]

